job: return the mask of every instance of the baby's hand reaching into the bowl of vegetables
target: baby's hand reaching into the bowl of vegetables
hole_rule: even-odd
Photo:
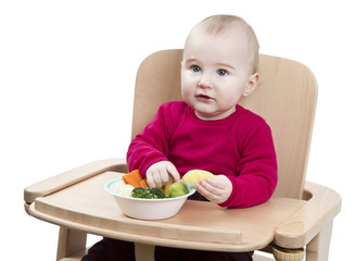
[[[180,174],[175,165],[169,161],[160,161],[152,164],[145,173],[147,182],[150,187],[162,187],[169,181],[169,175],[174,182],[180,181]]]

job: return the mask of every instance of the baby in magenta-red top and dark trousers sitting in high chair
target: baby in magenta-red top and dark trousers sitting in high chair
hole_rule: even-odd
[[[192,199],[226,208],[267,201],[277,184],[271,132],[261,116],[238,104],[257,86],[257,64],[258,41],[242,18],[214,15],[194,26],[181,62],[183,101],[162,104],[135,137],[127,152],[129,170],[139,170],[151,187],[162,187],[169,175],[178,182],[190,170],[205,170],[216,178],[201,181]],[[111,258],[100,258],[99,250]],[[123,260],[135,260],[131,243],[104,238],[83,260],[116,260],[123,252],[128,254]],[[155,247],[155,260],[244,261],[252,254]]]

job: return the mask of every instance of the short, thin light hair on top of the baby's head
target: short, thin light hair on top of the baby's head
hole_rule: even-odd
[[[254,29],[241,17],[236,15],[212,15],[201,21],[195,27],[203,26],[207,34],[219,35],[240,29],[248,40],[249,52],[251,55],[251,64],[253,73],[257,72],[258,67],[258,40]]]

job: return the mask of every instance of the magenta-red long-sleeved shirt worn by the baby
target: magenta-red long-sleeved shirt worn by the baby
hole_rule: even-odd
[[[271,132],[253,112],[236,107],[223,120],[204,121],[183,101],[164,103],[153,121],[131,141],[129,170],[170,161],[183,176],[190,170],[224,174],[232,192],[221,207],[246,208],[267,201],[277,184],[277,162]]]

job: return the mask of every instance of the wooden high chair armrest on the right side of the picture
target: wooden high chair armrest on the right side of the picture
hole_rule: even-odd
[[[283,248],[303,248],[341,210],[340,195],[327,187],[307,182],[304,187],[307,202],[275,229],[275,244]]]

